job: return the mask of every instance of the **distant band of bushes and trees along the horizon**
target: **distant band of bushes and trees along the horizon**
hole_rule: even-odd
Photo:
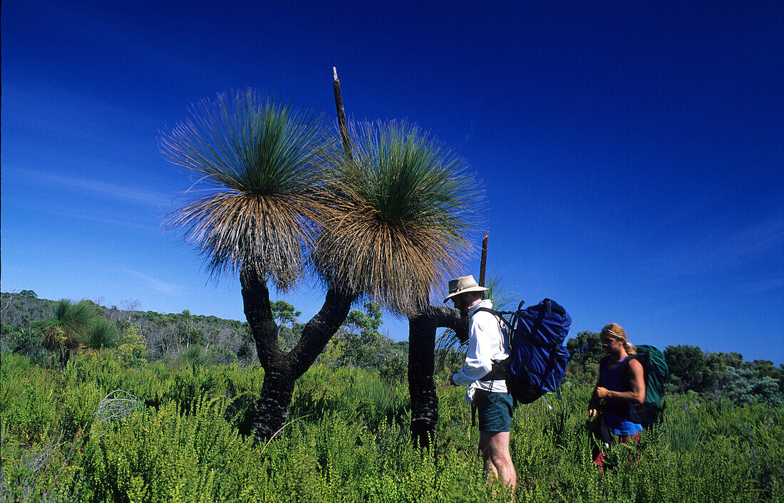
[[[34,291],[0,294],[2,338],[0,349],[6,353],[30,356],[42,364],[52,364],[53,353],[42,345],[36,322],[54,316],[56,301],[38,299]],[[189,360],[199,364],[230,364],[249,366],[258,362],[256,345],[247,322],[182,313],[161,314],[140,311],[139,302],[123,302],[121,307],[105,307],[92,303],[100,317],[116,329],[112,340],[100,339],[104,349],[114,349],[128,364],[158,360]],[[301,313],[289,302],[273,302],[278,322],[281,349],[296,345],[303,324]],[[328,367],[361,367],[376,369],[387,379],[405,378],[408,367],[408,342],[395,342],[383,335],[379,305],[366,302],[365,309],[350,312],[343,326],[319,356],[318,364]],[[100,349],[89,347],[84,349]],[[93,346],[96,343],[93,342]],[[572,358],[568,365],[568,381],[595,382],[599,361],[604,357],[599,334],[579,332],[567,342]],[[463,363],[459,349],[443,350],[439,355],[439,371]],[[443,352],[442,351],[442,352]],[[735,403],[770,403],[784,405],[784,364],[776,367],[769,360],[744,361],[740,353],[713,353],[697,346],[679,344],[666,346],[663,352],[670,367],[669,393],[700,393],[707,397],[728,397]]]

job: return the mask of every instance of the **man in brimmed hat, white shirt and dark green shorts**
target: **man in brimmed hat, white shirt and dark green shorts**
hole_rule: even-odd
[[[510,355],[506,328],[499,319],[481,307],[492,309],[484,291],[473,276],[449,281],[449,295],[455,309],[468,316],[468,352],[466,363],[450,376],[453,385],[468,385],[466,400],[479,413],[479,452],[488,473],[488,484],[499,478],[512,489],[517,483],[509,454],[509,430],[514,400],[506,391],[506,379],[500,362]]]

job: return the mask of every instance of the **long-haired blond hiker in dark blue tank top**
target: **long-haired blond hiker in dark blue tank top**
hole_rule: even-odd
[[[640,442],[642,431],[640,405],[645,400],[645,378],[642,364],[632,355],[637,349],[626,340],[626,331],[616,323],[601,330],[601,346],[608,354],[599,364],[599,380],[588,404],[588,416],[594,418],[601,410],[609,431],[603,443],[617,440],[621,443]],[[628,370],[624,370],[624,368]],[[602,404],[601,401],[604,400]],[[593,462],[604,469],[604,453],[593,450]]]

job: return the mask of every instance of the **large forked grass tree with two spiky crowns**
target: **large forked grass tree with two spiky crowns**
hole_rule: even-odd
[[[256,438],[285,425],[294,383],[361,297],[418,313],[466,248],[474,187],[456,157],[416,128],[355,130],[354,156],[312,114],[220,95],[160,139],[165,157],[197,177],[169,217],[212,274],[239,275],[264,381]],[[271,284],[289,291],[314,273],[325,301],[285,352]]]

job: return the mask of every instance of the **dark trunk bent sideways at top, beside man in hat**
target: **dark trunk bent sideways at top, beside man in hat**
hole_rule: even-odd
[[[437,327],[468,331],[466,317],[448,307],[429,306],[408,318],[408,393],[411,395],[411,435],[420,447],[430,445],[438,422],[438,396],[433,381]]]

